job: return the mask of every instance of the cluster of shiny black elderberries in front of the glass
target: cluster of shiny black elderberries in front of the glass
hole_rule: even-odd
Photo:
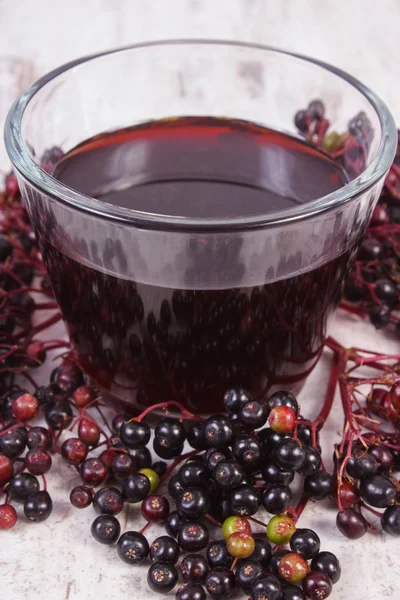
[[[226,392],[224,405],[227,415],[205,420],[183,408],[181,419],[163,416],[153,438],[144,422],[152,409],[129,421],[117,414],[117,436],[97,458],[87,458],[80,434],[68,439],[61,455],[78,467],[82,478],[71,492],[71,503],[77,508],[93,504],[99,513],[93,537],[102,544],[116,543],[122,561],[138,565],[150,558],[147,581],[153,591],[171,591],[181,574],[178,600],[201,600],[204,587],[215,598],[229,598],[237,589],[255,600],[327,598],[340,577],[339,562],[320,552],[315,532],[295,525],[307,497],[333,492],[332,476],[321,468],[315,447],[314,424],[299,417],[298,403],[288,392],[259,402],[234,388]],[[172,407],[179,405],[160,408]],[[185,442],[193,450],[182,454]],[[149,444],[163,460],[152,462]],[[173,462],[167,466],[169,459]],[[307,494],[296,509],[289,486],[295,471],[305,477]],[[100,487],[103,483],[106,487]],[[163,487],[167,493],[160,493]],[[140,503],[146,523],[139,531],[121,534],[117,515],[124,503]],[[255,517],[260,509],[272,515],[268,522]],[[144,533],[152,523],[163,523],[167,535],[149,543]],[[262,525],[266,536],[254,535],[251,523]],[[270,543],[277,544],[275,551]],[[286,544],[290,549],[283,549]]]

